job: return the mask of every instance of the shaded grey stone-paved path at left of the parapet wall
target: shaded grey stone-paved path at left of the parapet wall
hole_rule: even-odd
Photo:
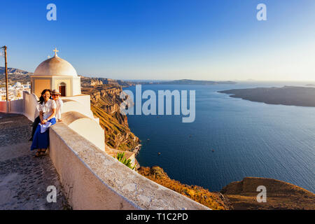
[[[0,210],[68,209],[49,155],[34,158],[30,135],[25,116],[0,113]],[[57,188],[57,202],[47,202],[48,186]]]

